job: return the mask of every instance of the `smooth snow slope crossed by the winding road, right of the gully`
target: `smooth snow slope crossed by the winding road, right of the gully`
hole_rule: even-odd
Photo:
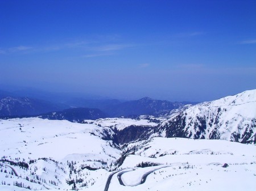
[[[131,143],[126,151],[130,154],[119,167],[126,170],[113,176],[111,191],[254,190],[256,186],[254,145],[158,137]],[[227,168],[222,167],[225,163]],[[144,168],[138,168],[141,164]]]

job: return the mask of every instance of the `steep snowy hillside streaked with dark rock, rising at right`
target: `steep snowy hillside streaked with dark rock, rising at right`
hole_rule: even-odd
[[[166,137],[256,143],[256,90],[194,105],[164,121]]]

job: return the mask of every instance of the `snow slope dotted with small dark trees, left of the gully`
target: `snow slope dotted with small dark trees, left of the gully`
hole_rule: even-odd
[[[98,177],[94,171],[101,168],[98,172],[107,176],[105,169],[121,156],[112,141],[102,139],[106,133],[113,131],[65,120],[0,120],[0,180],[33,189],[71,189],[73,182],[92,186]]]

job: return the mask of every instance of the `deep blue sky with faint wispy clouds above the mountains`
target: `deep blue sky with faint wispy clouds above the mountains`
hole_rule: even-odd
[[[256,1],[0,1],[0,84],[205,101],[256,88]]]

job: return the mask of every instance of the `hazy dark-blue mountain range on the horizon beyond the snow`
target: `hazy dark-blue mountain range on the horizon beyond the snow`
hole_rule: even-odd
[[[0,117],[4,116],[35,116],[38,114],[48,112],[57,112],[57,116],[53,118],[57,119],[58,116],[65,116],[70,121],[76,121],[78,118],[81,120],[81,115],[77,111],[93,111],[97,114],[90,116],[85,114],[85,119],[94,118],[96,116],[102,117],[120,117],[120,116],[139,116],[141,114],[152,114],[154,116],[163,115],[163,113],[170,113],[173,109],[183,107],[184,102],[162,101],[153,100],[149,97],[144,97],[139,100],[133,101],[119,101],[119,100],[86,100],[86,99],[73,99],[65,101],[66,104],[61,103],[51,103],[45,100],[34,99],[31,97],[16,97],[16,96],[5,96],[9,95],[8,92],[0,92]],[[72,103],[68,105],[68,103]],[[69,112],[63,111],[63,109],[68,109]],[[80,109],[74,109],[80,108]],[[86,109],[87,108],[87,109]],[[73,109],[73,112],[71,112]],[[92,110],[97,109],[97,111]],[[62,113],[60,111],[63,111]],[[81,112],[84,112],[81,111]],[[71,114],[73,113],[73,114]],[[75,116],[75,113],[77,116]],[[104,113],[104,114],[103,114]],[[71,114],[71,116],[68,116]],[[56,118],[57,117],[57,118]],[[72,118],[73,117],[73,118]]]

